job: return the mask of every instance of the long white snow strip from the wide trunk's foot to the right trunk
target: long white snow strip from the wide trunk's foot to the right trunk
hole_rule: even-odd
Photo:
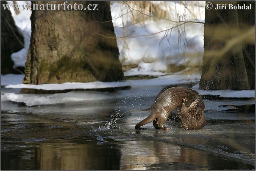
[[[155,85],[177,85],[183,83],[196,82],[200,75],[166,75],[150,80],[124,80],[119,82],[90,82],[90,83],[63,83],[63,84],[17,84],[7,85],[5,88],[32,88],[41,90],[67,90],[67,89],[92,89],[92,88],[112,88],[112,87],[143,87]]]

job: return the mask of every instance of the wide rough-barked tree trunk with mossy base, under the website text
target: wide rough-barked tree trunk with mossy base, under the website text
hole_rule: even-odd
[[[64,1],[51,1],[63,4]],[[109,1],[69,1],[98,4],[97,11],[33,11],[32,35],[23,83],[117,81],[123,78]],[[47,4],[47,1],[33,1]],[[56,5],[57,6],[57,5]],[[92,7],[91,7],[92,8]],[[62,7],[63,9],[63,7]]]

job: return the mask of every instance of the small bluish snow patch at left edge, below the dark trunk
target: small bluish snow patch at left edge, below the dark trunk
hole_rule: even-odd
[[[24,74],[1,74],[1,86],[21,84]]]

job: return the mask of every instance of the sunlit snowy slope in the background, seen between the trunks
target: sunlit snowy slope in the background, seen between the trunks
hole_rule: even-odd
[[[31,4],[31,1],[16,1],[17,4]],[[111,15],[114,31],[117,37],[132,36],[131,39],[117,39],[120,51],[120,61],[123,65],[136,64],[137,68],[125,71],[125,75],[163,75],[168,65],[200,66],[203,56],[203,25],[186,23],[178,27],[174,21],[204,21],[204,1],[188,3],[151,1],[167,13],[166,19],[148,17],[151,15],[145,10],[145,20],[134,23],[141,14],[131,8],[139,7],[122,1],[111,2]],[[13,1],[8,1],[12,4]],[[129,12],[131,11],[132,12]],[[15,23],[25,38],[25,47],[11,55],[14,66],[25,66],[31,37],[31,11],[19,10],[16,14],[13,8],[11,13]],[[152,14],[153,15],[153,14]],[[120,17],[122,16],[122,17]],[[173,28],[175,27],[175,28]],[[167,30],[173,28],[171,30]],[[167,31],[165,31],[167,30]],[[159,32],[159,33],[158,33]],[[157,33],[157,34],[155,34]],[[146,36],[153,34],[150,36]]]

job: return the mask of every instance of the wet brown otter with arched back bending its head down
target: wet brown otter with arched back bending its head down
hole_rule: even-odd
[[[201,95],[190,88],[165,87],[157,95],[149,110],[151,113],[147,118],[136,124],[135,129],[153,121],[156,129],[169,130],[163,124],[170,112],[180,107],[178,116],[181,119],[181,127],[185,130],[197,130],[205,126],[203,115],[204,102]]]

